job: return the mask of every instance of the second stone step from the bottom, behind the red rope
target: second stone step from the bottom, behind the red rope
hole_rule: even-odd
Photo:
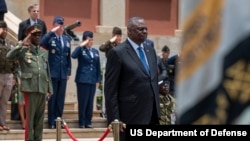
[[[78,128],[78,119],[64,119],[66,124],[69,128]],[[7,125],[10,127],[11,130],[17,130],[22,129],[22,123],[19,120],[7,120]],[[101,117],[93,117],[92,119],[92,125],[94,128],[106,128],[107,127],[107,120],[106,118]],[[44,119],[44,129],[48,129],[48,119]]]

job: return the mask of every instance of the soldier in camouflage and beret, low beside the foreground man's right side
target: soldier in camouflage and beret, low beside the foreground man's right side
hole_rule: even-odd
[[[169,93],[169,84],[166,81],[159,82],[160,125],[175,124],[175,98]]]

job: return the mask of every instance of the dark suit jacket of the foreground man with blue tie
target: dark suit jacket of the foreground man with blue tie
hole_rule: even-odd
[[[110,50],[104,94],[108,123],[149,124],[154,100],[160,117],[157,59],[154,48],[144,45],[151,76],[148,76],[128,40]]]

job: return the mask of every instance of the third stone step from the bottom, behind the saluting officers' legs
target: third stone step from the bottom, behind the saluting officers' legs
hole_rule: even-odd
[[[93,117],[100,117],[101,113],[102,112],[100,110],[93,111]],[[10,119],[10,116],[11,116],[11,111],[7,110],[6,119]],[[47,118],[47,117],[48,117],[48,111],[45,110],[44,118]],[[77,110],[64,110],[62,118],[64,118],[64,119],[78,119],[78,111]]]

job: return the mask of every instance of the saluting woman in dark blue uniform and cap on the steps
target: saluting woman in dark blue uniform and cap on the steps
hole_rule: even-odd
[[[72,52],[77,59],[76,87],[78,100],[78,118],[80,128],[92,128],[93,102],[96,88],[101,82],[100,55],[93,46],[93,32],[85,31],[82,43]]]

